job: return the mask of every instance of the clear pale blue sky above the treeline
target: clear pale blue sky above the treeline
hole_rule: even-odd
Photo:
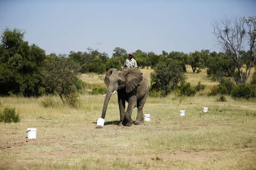
[[[49,53],[85,52],[90,46],[112,56],[117,46],[156,54],[220,51],[212,23],[256,16],[256,1],[1,1],[0,32],[26,32],[24,39]]]

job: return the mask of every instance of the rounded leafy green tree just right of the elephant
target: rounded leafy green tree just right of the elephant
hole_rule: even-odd
[[[151,89],[167,96],[185,81],[182,65],[172,58],[159,62],[151,77]]]

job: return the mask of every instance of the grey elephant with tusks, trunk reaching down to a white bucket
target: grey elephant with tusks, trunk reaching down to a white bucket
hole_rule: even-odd
[[[142,124],[144,122],[143,107],[147,99],[149,86],[148,80],[144,78],[138,68],[129,68],[123,70],[110,69],[107,71],[104,82],[108,87],[105,101],[102,109],[101,118],[105,118],[109,99],[114,90],[117,90],[118,105],[120,112],[119,126],[131,126]],[[125,101],[128,102],[125,111]],[[131,119],[133,109],[138,108],[136,121]]]

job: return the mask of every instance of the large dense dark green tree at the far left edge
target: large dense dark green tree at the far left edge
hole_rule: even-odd
[[[46,57],[43,49],[23,40],[24,32],[5,29],[0,44],[0,94],[41,95],[40,68]]]

